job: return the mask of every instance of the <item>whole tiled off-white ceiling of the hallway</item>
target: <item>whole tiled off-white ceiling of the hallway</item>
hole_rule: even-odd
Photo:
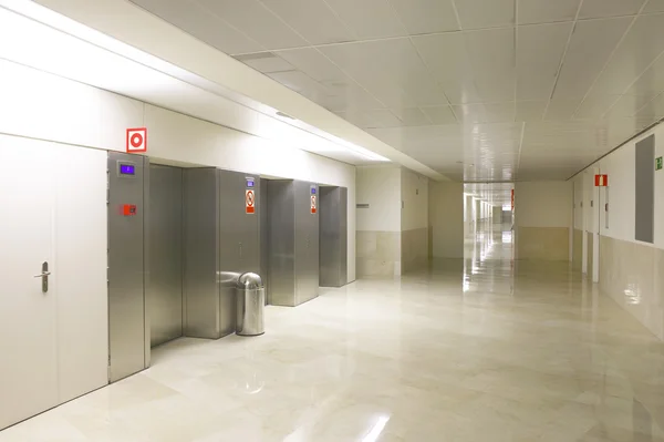
[[[562,179],[664,116],[664,0],[132,0],[455,179]]]

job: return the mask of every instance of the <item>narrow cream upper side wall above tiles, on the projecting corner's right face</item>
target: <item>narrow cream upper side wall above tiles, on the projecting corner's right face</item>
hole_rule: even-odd
[[[402,167],[402,230],[428,227],[428,178]]]

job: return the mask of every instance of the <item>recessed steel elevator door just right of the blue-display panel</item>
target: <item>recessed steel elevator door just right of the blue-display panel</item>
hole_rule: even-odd
[[[183,169],[149,167],[151,346],[183,336]]]

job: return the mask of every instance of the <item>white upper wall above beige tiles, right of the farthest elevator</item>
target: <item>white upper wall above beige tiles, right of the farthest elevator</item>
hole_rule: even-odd
[[[401,168],[357,167],[356,186],[357,204],[369,204],[357,210],[357,230],[401,232]]]

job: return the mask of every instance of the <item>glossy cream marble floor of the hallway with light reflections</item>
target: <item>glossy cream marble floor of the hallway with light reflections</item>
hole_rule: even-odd
[[[267,309],[268,332],[179,339],[143,373],[0,442],[664,441],[664,343],[564,264],[467,259]]]

